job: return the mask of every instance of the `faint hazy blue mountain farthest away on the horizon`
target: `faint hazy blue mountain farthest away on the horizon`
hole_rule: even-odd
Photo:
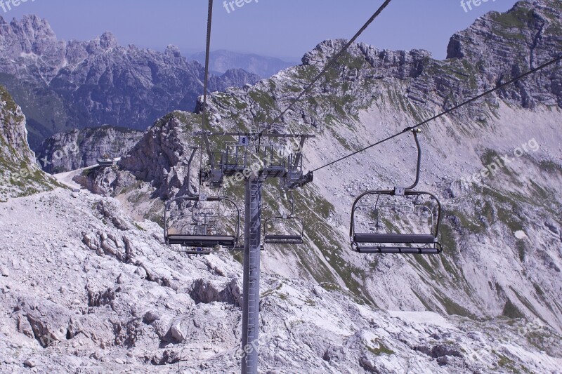
[[[200,52],[192,55],[191,60],[197,60],[205,63],[205,53]],[[214,72],[220,74],[225,73],[228,69],[244,69],[246,72],[257,74],[263,78],[277,74],[282,69],[299,65],[297,62],[287,62],[279,58],[266,57],[253,53],[236,53],[225,51],[223,49],[212,51],[209,55],[210,68]]]

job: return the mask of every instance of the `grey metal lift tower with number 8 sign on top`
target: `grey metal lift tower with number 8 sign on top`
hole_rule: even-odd
[[[209,165],[201,171],[201,180],[210,187],[244,180],[244,288],[242,305],[242,374],[258,373],[259,275],[261,253],[261,190],[268,179],[281,180],[283,189],[294,189],[312,182],[312,173],[304,174],[302,148],[315,135],[277,133],[202,132]],[[230,138],[226,149],[211,151],[211,138]],[[296,139],[292,150],[280,140]],[[236,141],[237,140],[237,141]],[[225,143],[222,143],[225,144]],[[230,178],[230,180],[229,180]],[[240,238],[238,238],[240,239]],[[238,246],[235,250],[242,251]]]

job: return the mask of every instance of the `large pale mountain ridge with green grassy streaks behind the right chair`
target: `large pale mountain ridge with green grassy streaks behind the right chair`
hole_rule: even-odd
[[[354,44],[282,124],[287,131],[319,131],[318,139],[306,145],[306,161],[309,169],[321,166],[556,57],[552,47],[562,39],[560,14],[560,4],[544,0],[520,1],[508,13],[485,15],[451,41],[451,51],[473,53],[445,61],[432,60],[425,51],[378,51]],[[482,30],[478,25],[486,25],[492,34],[483,36],[476,31]],[[537,30],[542,30],[540,37]],[[502,53],[481,60],[483,53],[476,49],[479,34],[503,46]],[[473,44],[466,46],[463,40]],[[251,88],[216,93],[209,107],[212,130],[256,131],[343,45],[344,41],[325,41],[305,55],[300,67]],[[519,53],[521,48],[528,53]],[[415,154],[412,140],[404,138],[317,173],[314,187],[297,194],[301,214],[308,218],[306,249],[287,252],[273,247],[273,255],[264,256],[266,269],[348,288],[384,309],[430,309],[480,318],[525,316],[560,330],[561,289],[551,279],[562,266],[562,205],[556,194],[562,168],[559,135],[553,127],[561,116],[561,77],[559,67],[545,70],[426,127],[421,188],[438,192],[445,203],[442,240],[447,250],[442,256],[379,259],[348,251],[352,196],[412,178]],[[122,160],[125,171],[92,174],[93,184],[103,181],[98,191],[143,201],[136,214],[158,220],[161,201],[138,192],[129,195],[127,184],[135,178],[148,182],[152,196],[164,199],[184,193],[189,182],[185,157],[190,145],[197,144],[192,131],[198,123],[197,116],[181,112],[164,117]],[[502,168],[495,178],[473,186],[460,182],[494,156],[535,142],[540,149],[535,152],[529,146],[518,163]],[[275,191],[264,195],[267,206],[282,205]],[[241,201],[242,196],[237,197]]]

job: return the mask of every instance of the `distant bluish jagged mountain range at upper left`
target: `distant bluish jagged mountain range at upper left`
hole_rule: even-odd
[[[204,68],[175,46],[164,53],[119,46],[110,32],[91,41],[57,39],[46,20],[0,17],[0,84],[27,116],[30,144],[72,128],[110,123],[144,131],[174,109],[191,111]],[[259,80],[235,70],[211,80],[215,91]]]

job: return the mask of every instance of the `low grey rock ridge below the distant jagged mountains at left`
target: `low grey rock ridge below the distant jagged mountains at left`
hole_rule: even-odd
[[[43,171],[56,174],[86,168],[104,155],[121,157],[143,136],[141,131],[102,126],[55,134],[41,143],[37,159]]]

